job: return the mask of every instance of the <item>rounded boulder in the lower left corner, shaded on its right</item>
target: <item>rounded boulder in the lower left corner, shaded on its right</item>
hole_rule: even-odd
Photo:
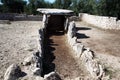
[[[17,80],[21,73],[21,68],[17,64],[12,64],[6,70],[4,80]]]

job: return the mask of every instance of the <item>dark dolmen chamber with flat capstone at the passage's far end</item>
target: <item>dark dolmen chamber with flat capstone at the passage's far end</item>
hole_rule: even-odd
[[[68,18],[73,15],[71,10],[63,9],[37,9],[43,14],[43,25],[47,31],[59,32],[65,31]]]

